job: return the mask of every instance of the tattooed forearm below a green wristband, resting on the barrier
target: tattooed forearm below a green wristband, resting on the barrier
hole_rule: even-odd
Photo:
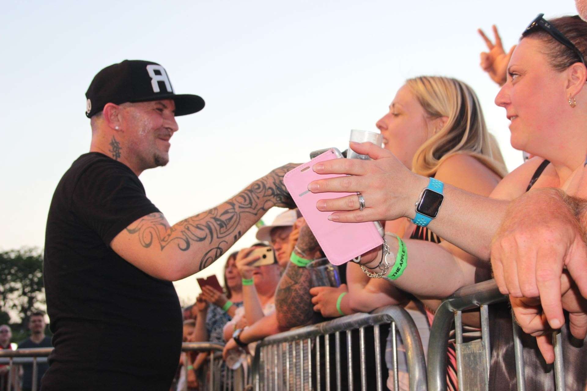
[[[288,263],[275,293],[275,312],[279,327],[312,324],[318,318],[312,305],[312,278],[305,267]]]

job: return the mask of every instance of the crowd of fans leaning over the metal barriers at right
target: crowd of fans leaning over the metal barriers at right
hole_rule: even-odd
[[[324,255],[303,217],[295,220],[291,210],[285,212],[291,216],[287,231],[276,223],[264,227],[273,229],[270,241],[282,273],[279,281],[264,279],[264,294],[257,294],[255,286],[266,272],[246,266],[255,260],[247,258],[251,249],[229,258],[225,280],[232,262],[243,281],[255,273],[259,280],[251,288],[238,288],[243,295],[238,297],[241,303],[234,301],[237,314],[224,312],[224,358],[237,349],[254,354],[255,341],[277,332],[389,304],[406,308],[426,352],[434,310],[441,300],[460,287],[495,277],[502,293],[510,295],[517,321],[528,333],[524,336],[525,365],[535,376],[527,379],[527,386],[554,387],[552,368],[544,365],[554,360],[549,332],[562,327],[565,362],[571,369],[566,383],[571,389],[585,388],[584,360],[579,358],[586,353],[580,341],[587,331],[585,208],[581,199],[587,140],[581,127],[586,111],[577,106],[587,97],[583,89],[587,23],[577,16],[547,22],[539,15],[507,53],[495,26],[494,42],[480,33],[489,50],[481,53],[481,67],[501,86],[495,103],[505,108],[512,121],[512,146],[528,152],[528,161],[508,174],[500,149],[487,131],[478,98],[467,84],[438,76],[407,80],[389,112],[376,123],[383,134],[383,148],[351,145],[373,160],[335,160],[315,166],[320,174],[349,174],[352,179],[325,179],[309,186],[312,192],[363,195],[365,210],[360,210],[356,196],[325,200],[317,208],[335,212],[329,218],[339,222],[385,222],[390,252],[397,254],[400,243],[407,249],[409,266],[402,277],[369,278],[363,273],[362,266],[381,267],[384,254],[379,249],[365,254],[363,265],[349,262],[341,267],[345,283],[340,286],[312,286],[311,271],[295,260]],[[430,226],[422,226],[414,222],[413,202],[426,188],[427,177],[444,183],[444,210]],[[414,184],[413,189],[408,183]],[[278,220],[286,221],[282,216]],[[276,242],[278,238],[286,246]],[[269,237],[259,231],[258,239]],[[204,292],[194,306],[214,306],[220,313],[226,300],[222,294]],[[198,310],[196,317],[201,328],[202,314],[205,312]],[[210,320],[208,317],[206,324]],[[478,312],[466,314],[464,323],[473,331],[468,335],[475,338],[480,326]],[[492,311],[491,332],[490,389],[513,389],[508,305]],[[194,331],[187,338],[204,341],[203,335]],[[447,355],[448,389],[456,390],[454,344]],[[408,389],[401,357],[400,370],[400,388]],[[391,384],[389,387],[392,389]]]

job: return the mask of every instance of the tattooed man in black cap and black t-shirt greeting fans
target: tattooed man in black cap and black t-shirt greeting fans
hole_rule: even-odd
[[[293,206],[283,176],[295,165],[172,226],[139,175],[167,164],[176,115],[201,110],[204,100],[175,94],[166,70],[142,60],[101,70],[86,98],[90,152],[63,175],[47,219],[55,350],[41,389],[168,390],[182,337],[171,281],[209,266],[272,206]]]

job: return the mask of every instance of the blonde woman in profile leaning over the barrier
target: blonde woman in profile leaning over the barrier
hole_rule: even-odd
[[[420,76],[406,81],[397,91],[389,111],[376,123],[382,132],[384,148],[396,155],[411,171],[434,176],[458,188],[488,196],[505,176],[501,153],[487,131],[483,111],[473,89],[460,80]],[[448,251],[475,262],[457,247],[433,232],[401,218],[386,223],[386,231],[406,239],[443,243]],[[312,288],[315,310],[325,317],[370,312],[384,305],[406,303],[427,349],[432,312],[418,300],[393,285],[369,278],[356,264],[347,266],[348,294],[340,288]],[[338,298],[341,300],[338,301]],[[336,307],[335,303],[339,303]],[[428,307],[437,303],[424,301]],[[340,308],[340,310],[338,310]],[[428,318],[427,318],[428,315]],[[454,346],[448,355],[454,358]],[[450,361],[454,364],[454,360]],[[388,368],[391,361],[388,362]],[[456,367],[449,367],[449,389],[456,389]],[[407,389],[407,368],[400,357],[400,389]],[[390,380],[393,376],[390,376]],[[393,385],[389,385],[393,389]]]

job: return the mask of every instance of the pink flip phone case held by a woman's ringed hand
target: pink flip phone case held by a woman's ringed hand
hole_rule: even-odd
[[[303,218],[312,230],[316,240],[330,263],[340,265],[364,254],[383,244],[383,239],[373,222],[365,223],[338,223],[328,220],[332,212],[321,212],[316,209],[316,202],[320,199],[339,198],[353,193],[312,193],[308,191],[308,184],[316,179],[336,178],[345,176],[340,174],[316,174],[312,166],[318,162],[336,159],[332,149],[302,164],[284,176],[285,187]]]

